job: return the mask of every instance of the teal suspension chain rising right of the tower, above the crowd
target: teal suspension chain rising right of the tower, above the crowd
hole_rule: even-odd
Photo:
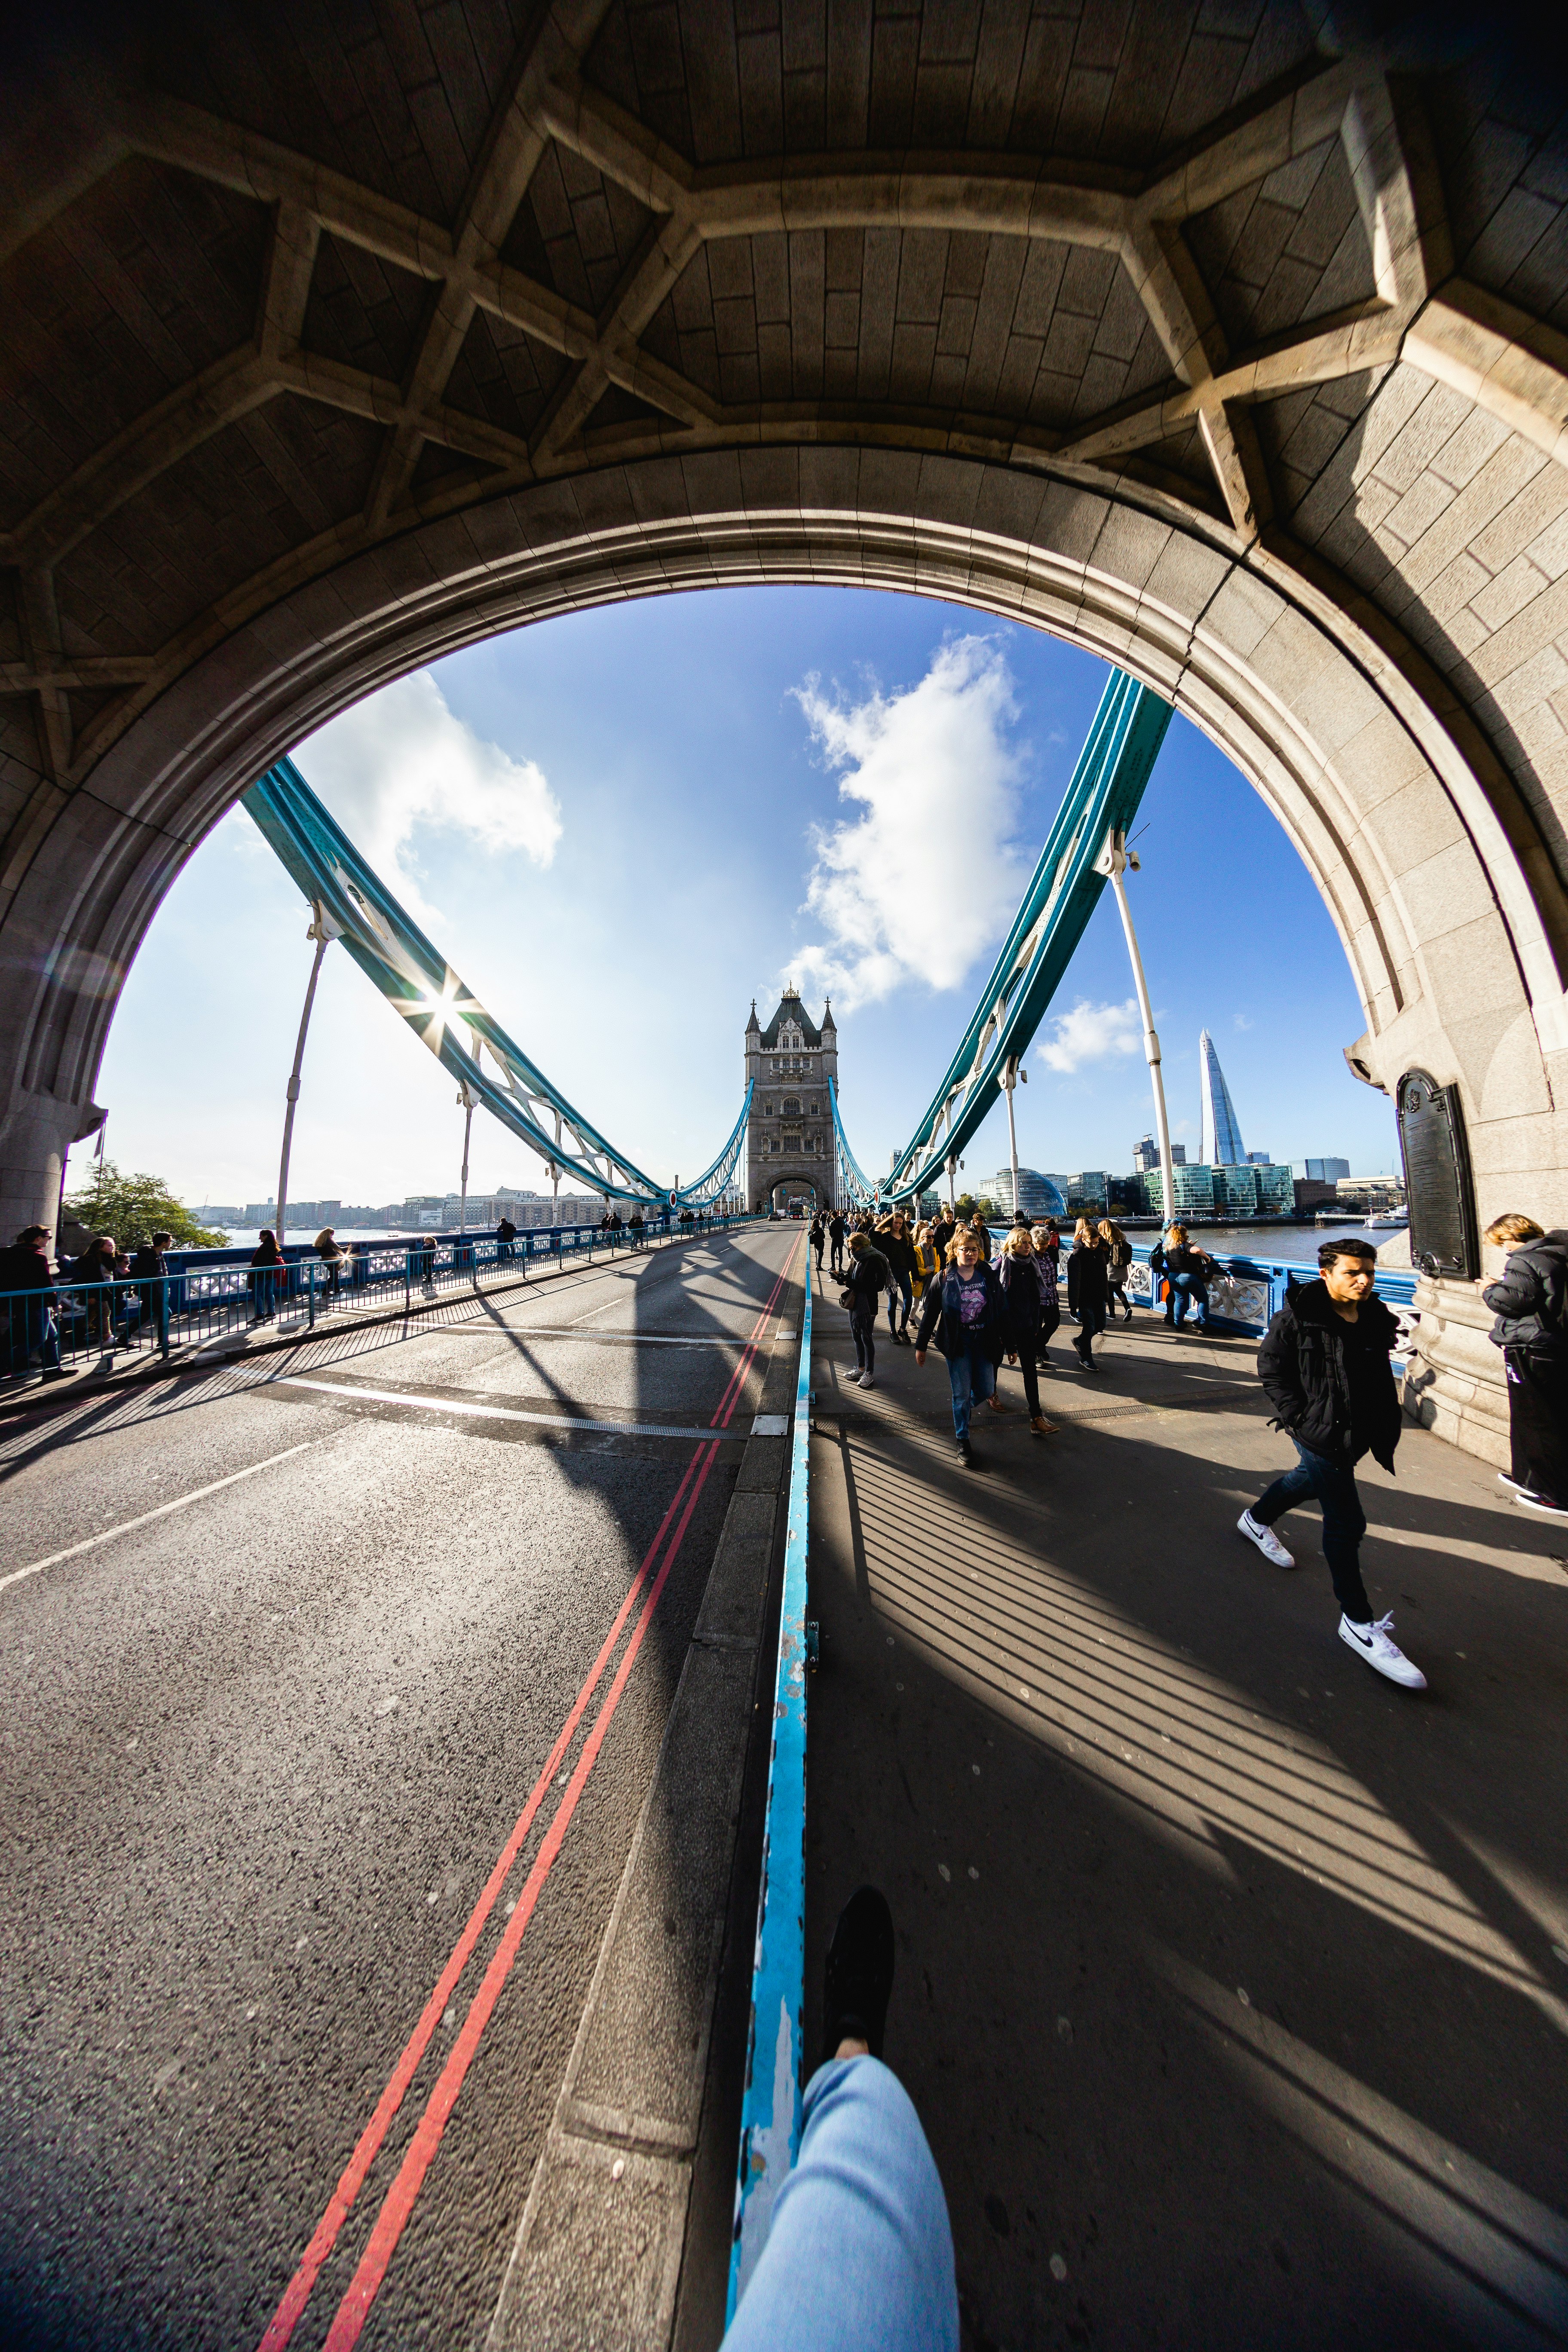
[[[1112,670],[1023,906],[947,1075],[891,1174],[875,1185],[849,1148],[835,1094],[832,1131],[846,1192],[860,1188],[856,1197],[867,1202],[919,1200],[943,1167],[957,1162],[997,1101],[1009,1063],[1023,1058],[1051,1009],[1105,889],[1107,868],[1095,868],[1095,861],[1138,814],[1168,724],[1171,703],[1124,670]]]

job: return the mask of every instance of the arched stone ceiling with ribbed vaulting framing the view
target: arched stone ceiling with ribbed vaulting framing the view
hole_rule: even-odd
[[[1523,1007],[1554,1108],[1568,165],[1542,66],[1418,19],[1340,45],[1298,0],[118,21],[14,78],[0,136],[12,1091],[85,1101],[169,873],[310,717],[574,600],[853,576],[1124,652],[1269,793],[1333,769],[1345,710],[1373,727],[1371,682],[1389,807],[1415,746],[1446,814],[1410,802],[1401,840],[1366,750],[1340,804],[1272,797],[1373,1028],[1436,990],[1455,1035],[1441,924],[1396,877],[1465,833],[1509,967],[1486,1018]],[[1154,541],[1187,581],[1145,604]],[[1194,659],[1241,590],[1260,642],[1300,621],[1291,677],[1234,616],[1244,684]]]

